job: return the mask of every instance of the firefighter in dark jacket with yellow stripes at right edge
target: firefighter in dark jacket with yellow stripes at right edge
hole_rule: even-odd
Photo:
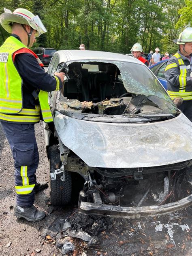
[[[192,28],[186,28],[173,40],[179,50],[168,60],[164,75],[167,92],[174,102],[183,100],[178,107],[192,122]]]

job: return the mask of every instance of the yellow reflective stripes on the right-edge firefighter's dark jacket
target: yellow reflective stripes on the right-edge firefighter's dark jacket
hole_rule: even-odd
[[[179,66],[177,63],[172,63],[166,66],[165,71],[168,70],[169,68],[175,68],[178,67],[180,70],[180,75],[179,75],[179,92],[174,92],[174,91],[167,91],[171,99],[173,100],[176,97],[181,97],[183,100],[192,100],[192,92],[186,92],[186,79],[189,80],[190,77],[187,77],[187,72],[188,69],[190,69],[190,65],[185,65],[183,62],[181,55],[177,52],[174,57],[177,58],[179,62]]]

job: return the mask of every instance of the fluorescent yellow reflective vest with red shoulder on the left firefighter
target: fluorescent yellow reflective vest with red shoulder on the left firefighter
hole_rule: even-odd
[[[48,92],[39,91],[39,105],[35,109],[23,109],[22,79],[15,68],[14,56],[19,53],[31,53],[43,66],[37,55],[28,49],[14,36],[6,39],[0,47],[0,120],[7,122],[38,123],[40,110],[44,122],[53,122],[48,102]],[[59,90],[60,81],[57,81],[56,90]]]

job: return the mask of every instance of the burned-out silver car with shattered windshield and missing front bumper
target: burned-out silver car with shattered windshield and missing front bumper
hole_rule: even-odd
[[[61,71],[45,124],[51,204],[78,191],[81,213],[122,218],[191,205],[192,123],[149,68],[122,54],[64,50],[48,68]]]

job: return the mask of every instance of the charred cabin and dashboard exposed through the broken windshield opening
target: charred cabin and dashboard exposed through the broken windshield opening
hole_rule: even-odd
[[[163,116],[167,114],[163,112],[166,108],[163,107],[162,111],[158,101],[154,100],[156,96],[147,97],[128,92],[121,78],[121,72],[115,64],[73,62],[68,64],[67,77],[61,94],[68,105],[68,111],[71,108],[79,109],[79,104],[81,104],[81,113],[128,114],[129,116],[134,115],[134,117],[140,113],[153,115],[158,113],[161,116],[155,117],[155,119],[161,120],[174,117],[170,114]],[[64,109],[66,108],[64,107]],[[145,121],[147,120],[149,121],[149,117]],[[150,121],[153,122],[153,119]]]

